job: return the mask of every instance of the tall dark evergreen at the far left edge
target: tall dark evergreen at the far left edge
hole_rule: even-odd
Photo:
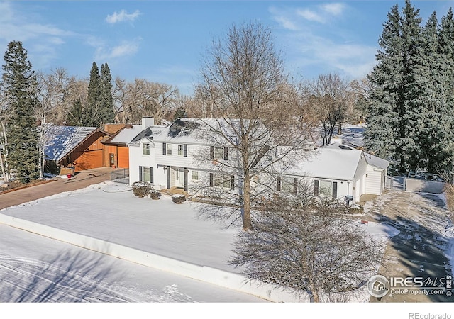
[[[4,84],[10,98],[11,118],[6,127],[7,162],[16,178],[28,182],[40,177],[39,135],[34,118],[36,78],[20,41],[11,41],[4,55]]]

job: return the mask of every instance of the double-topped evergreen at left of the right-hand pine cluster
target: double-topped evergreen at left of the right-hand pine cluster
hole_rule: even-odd
[[[380,36],[377,65],[369,76],[372,83],[367,110],[365,145],[367,150],[392,160],[400,172],[419,163],[418,118],[424,116],[424,84],[415,77],[421,73],[418,48],[421,44],[421,18],[409,0],[402,14],[397,5],[388,14]],[[419,52],[423,53],[423,52]],[[423,58],[423,57],[422,57]],[[423,89],[421,89],[423,88]]]

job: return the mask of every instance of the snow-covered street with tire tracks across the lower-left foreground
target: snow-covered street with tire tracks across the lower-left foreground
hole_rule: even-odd
[[[0,302],[265,302],[0,225]]]

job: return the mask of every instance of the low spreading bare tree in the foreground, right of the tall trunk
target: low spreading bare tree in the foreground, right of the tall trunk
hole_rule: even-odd
[[[384,246],[346,213],[338,201],[273,198],[254,229],[238,235],[230,262],[250,281],[308,293],[311,302],[353,297],[377,272]]]

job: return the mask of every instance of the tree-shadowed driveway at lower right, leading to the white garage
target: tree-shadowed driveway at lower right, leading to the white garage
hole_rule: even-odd
[[[399,230],[389,240],[384,260],[378,274],[387,277],[422,277],[423,280],[452,276],[445,251],[450,245],[445,229],[449,222],[448,211],[437,194],[387,190],[375,201],[367,203],[365,211],[381,223],[388,223]],[[424,286],[429,286],[425,281]],[[402,291],[398,291],[401,292]],[[454,302],[454,296],[424,294],[421,289],[405,293],[387,293],[370,302]]]

